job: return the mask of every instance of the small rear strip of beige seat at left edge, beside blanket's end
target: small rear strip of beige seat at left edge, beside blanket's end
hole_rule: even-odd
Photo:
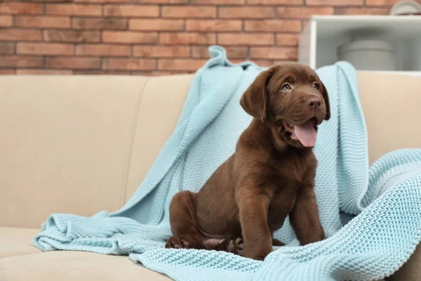
[[[8,256],[41,253],[41,250],[32,244],[32,238],[36,233],[39,233],[39,229],[0,228],[0,259]]]

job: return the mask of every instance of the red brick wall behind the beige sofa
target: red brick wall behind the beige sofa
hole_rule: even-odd
[[[421,0],[419,0],[421,1]],[[313,14],[387,14],[396,0],[0,0],[0,74],[193,72],[297,59]]]

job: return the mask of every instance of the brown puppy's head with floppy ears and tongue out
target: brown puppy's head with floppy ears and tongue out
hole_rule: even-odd
[[[316,72],[300,63],[283,63],[260,73],[240,103],[296,147],[312,147],[317,125],[330,118],[326,87]]]

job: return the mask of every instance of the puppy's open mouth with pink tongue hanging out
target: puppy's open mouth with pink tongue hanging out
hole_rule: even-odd
[[[300,125],[288,124],[288,122],[283,121],[282,125],[284,126],[286,133],[290,136],[291,139],[295,141],[300,141],[302,145],[306,147],[314,146],[316,143],[316,118],[308,119],[306,122]]]

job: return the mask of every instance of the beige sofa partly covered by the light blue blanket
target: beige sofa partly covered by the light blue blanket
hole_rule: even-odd
[[[43,253],[32,237],[51,213],[91,216],[127,202],[171,136],[191,81],[0,77],[0,280],[168,280],[126,256]],[[364,72],[359,83],[370,162],[420,148],[421,77]],[[421,279],[420,251],[392,280]]]

